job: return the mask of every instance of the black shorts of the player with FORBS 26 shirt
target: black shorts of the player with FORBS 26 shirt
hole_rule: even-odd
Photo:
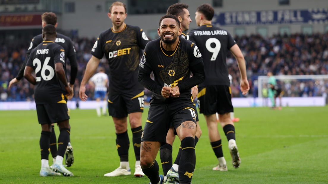
[[[40,124],[57,123],[70,119],[66,103],[36,104],[36,112]]]

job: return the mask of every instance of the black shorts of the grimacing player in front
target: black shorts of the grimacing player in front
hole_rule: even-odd
[[[142,133],[142,141],[158,141],[166,143],[166,134],[170,129],[171,123],[176,128],[185,121],[193,121],[187,124],[186,128],[196,129],[196,115],[194,103],[191,100],[175,101],[173,103],[154,103],[150,101],[148,118]]]

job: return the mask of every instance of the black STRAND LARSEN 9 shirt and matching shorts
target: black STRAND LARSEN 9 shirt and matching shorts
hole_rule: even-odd
[[[211,24],[204,24],[188,33],[203,56],[206,79],[198,85],[197,103],[204,115],[234,112],[227,51],[236,44],[230,33]]]

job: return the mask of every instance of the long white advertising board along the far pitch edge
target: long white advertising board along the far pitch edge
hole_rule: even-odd
[[[279,104],[277,99],[277,104]],[[96,109],[96,101],[79,101],[79,109]],[[268,98],[233,98],[234,107],[271,107]],[[282,106],[301,107],[301,106],[325,106],[324,97],[282,97]],[[100,102],[102,107],[102,101]],[[146,105],[145,105],[146,106]],[[69,109],[76,109],[76,101],[68,101]],[[34,101],[0,102],[0,110],[35,110]]]

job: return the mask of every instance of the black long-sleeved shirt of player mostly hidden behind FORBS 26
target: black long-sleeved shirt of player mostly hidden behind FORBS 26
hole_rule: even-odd
[[[23,78],[24,75],[24,69],[25,69],[25,65],[27,63],[27,60],[29,59],[29,55],[31,54],[31,51],[38,46],[39,44],[41,44],[43,42],[42,39],[42,34],[39,34],[37,36],[35,36],[30,44],[30,47],[28,48],[28,51],[26,52],[27,57],[21,67],[21,69],[19,70],[16,79],[17,80],[21,80]],[[60,33],[57,33],[57,37],[56,37],[56,44],[62,46],[65,50],[65,61],[66,58],[69,59],[70,64],[71,64],[71,79],[70,79],[70,83],[74,84],[75,83],[75,78],[76,78],[76,74],[77,74],[77,62],[76,62],[76,51],[73,45],[73,42],[71,40],[71,38],[62,35]],[[65,70],[66,71],[66,70]]]

